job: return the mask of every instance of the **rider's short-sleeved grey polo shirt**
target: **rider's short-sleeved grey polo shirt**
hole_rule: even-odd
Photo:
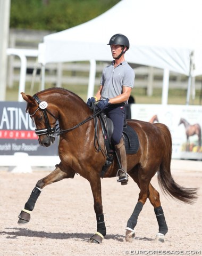
[[[114,68],[114,62],[103,69],[100,85],[103,85],[101,99],[114,98],[123,91],[123,86],[133,88],[134,70],[127,61]],[[125,102],[126,103],[126,102]]]

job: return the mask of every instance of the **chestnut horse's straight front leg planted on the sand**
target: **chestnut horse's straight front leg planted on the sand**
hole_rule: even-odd
[[[102,191],[101,191],[101,181],[100,177],[96,177],[93,180],[90,180],[90,186],[92,190],[92,195],[94,197],[94,210],[96,213],[97,220],[97,231],[90,238],[89,242],[91,243],[102,243],[104,236],[106,235],[106,227],[103,214],[103,205],[102,205]]]

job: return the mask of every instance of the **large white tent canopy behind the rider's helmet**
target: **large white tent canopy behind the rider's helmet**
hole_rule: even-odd
[[[95,19],[45,36],[39,62],[110,61],[107,43],[121,33],[130,41],[128,62],[197,76],[202,74],[201,10],[200,0],[122,0]]]

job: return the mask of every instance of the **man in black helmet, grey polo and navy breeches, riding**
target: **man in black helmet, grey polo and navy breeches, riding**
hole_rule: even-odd
[[[126,36],[116,34],[111,37],[108,45],[111,46],[114,60],[111,65],[104,68],[99,90],[95,97],[88,99],[87,105],[91,107],[92,103],[99,101],[96,108],[104,110],[107,117],[112,120],[114,125],[112,144],[121,164],[117,173],[119,175],[117,181],[121,182],[121,185],[127,185],[127,157],[122,132],[125,117],[124,106],[127,104],[134,86],[134,70],[124,58],[125,52],[130,47]]]

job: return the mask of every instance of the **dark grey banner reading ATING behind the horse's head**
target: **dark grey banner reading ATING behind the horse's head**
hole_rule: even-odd
[[[23,152],[29,155],[58,155],[58,138],[50,147],[39,145],[35,125],[26,113],[25,102],[0,102],[0,155]]]

